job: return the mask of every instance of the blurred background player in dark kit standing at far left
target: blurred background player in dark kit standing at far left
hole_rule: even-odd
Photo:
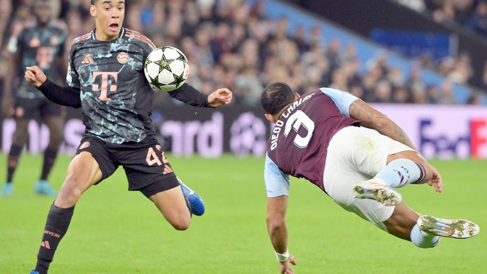
[[[62,142],[61,106],[47,100],[34,86],[23,81],[22,77],[17,79],[15,76],[16,72],[23,72],[25,67],[37,65],[50,79],[59,80],[59,76],[66,72],[64,41],[67,34],[64,23],[52,18],[53,10],[49,0],[35,1],[33,13],[36,18],[34,26],[24,28],[17,36],[16,42],[12,38],[8,47],[11,53],[11,68],[5,77],[2,109],[5,117],[15,117],[16,129],[8,153],[6,183],[0,192],[2,196],[11,195],[13,192],[12,178],[27,141],[29,121],[39,117],[48,126],[50,138],[44,151],[41,177],[34,185],[34,191],[37,194],[57,195],[47,178]],[[13,99],[12,86],[16,80],[19,80],[19,85]]]

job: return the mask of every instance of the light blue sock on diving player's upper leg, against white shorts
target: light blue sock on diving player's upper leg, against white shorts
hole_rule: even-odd
[[[409,159],[396,159],[377,173],[375,178],[382,179],[388,186],[397,188],[419,183],[425,179],[423,165]]]

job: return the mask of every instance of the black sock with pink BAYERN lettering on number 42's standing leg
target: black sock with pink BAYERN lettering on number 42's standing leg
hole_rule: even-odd
[[[37,254],[37,266],[35,271],[40,274],[47,274],[49,264],[53,261],[54,252],[62,237],[68,230],[71,217],[73,217],[74,207],[62,209],[51,205],[44,235],[42,237],[41,247]]]

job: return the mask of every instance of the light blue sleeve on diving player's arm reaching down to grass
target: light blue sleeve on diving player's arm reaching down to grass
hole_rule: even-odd
[[[289,196],[289,175],[282,173],[266,154],[264,167],[267,197]]]

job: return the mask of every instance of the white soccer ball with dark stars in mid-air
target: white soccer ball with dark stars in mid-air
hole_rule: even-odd
[[[173,91],[186,82],[189,63],[184,54],[173,47],[155,49],[144,64],[147,81],[162,91]]]

